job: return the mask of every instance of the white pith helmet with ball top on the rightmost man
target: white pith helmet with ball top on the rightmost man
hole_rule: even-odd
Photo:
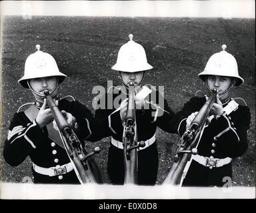
[[[235,57],[230,53],[227,53],[225,49],[227,45],[222,45],[223,51],[213,54],[207,61],[205,69],[203,72],[199,73],[199,77],[205,81],[205,76],[207,75],[220,75],[225,77],[233,77],[237,79],[235,87],[243,84],[243,78],[239,76],[237,61]]]

